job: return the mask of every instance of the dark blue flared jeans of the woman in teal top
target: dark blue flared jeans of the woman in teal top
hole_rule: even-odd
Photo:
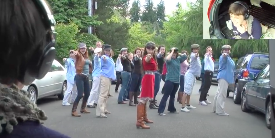
[[[159,109],[158,113],[163,113],[166,107],[166,102],[170,96],[169,103],[168,103],[168,111],[169,112],[176,112],[175,107],[175,95],[178,91],[179,83],[173,83],[169,80],[165,81],[164,83],[164,95],[161,98],[161,101],[159,103]]]

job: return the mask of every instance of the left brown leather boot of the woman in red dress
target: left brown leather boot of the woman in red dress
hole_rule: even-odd
[[[145,108],[145,104],[143,104],[142,102],[139,102],[139,104],[137,105],[136,128],[141,127],[143,129],[150,129],[150,126],[146,126],[143,121],[144,108]]]

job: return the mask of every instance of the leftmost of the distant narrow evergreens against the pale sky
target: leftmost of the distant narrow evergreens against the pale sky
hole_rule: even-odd
[[[138,22],[140,21],[140,14],[141,14],[141,11],[140,11],[140,1],[139,0],[135,0],[133,3],[132,3],[132,7],[130,8],[130,19],[131,19],[131,22]]]

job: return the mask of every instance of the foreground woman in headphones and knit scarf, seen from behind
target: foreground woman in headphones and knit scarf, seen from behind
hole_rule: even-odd
[[[41,124],[48,117],[21,90],[55,59],[55,20],[44,0],[0,1],[0,137],[69,138]]]

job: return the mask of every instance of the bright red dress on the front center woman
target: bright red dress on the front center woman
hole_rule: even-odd
[[[157,63],[154,58],[151,58],[149,62],[145,61],[145,57],[142,59],[142,66],[144,71],[156,71]],[[145,74],[141,81],[141,100],[152,100],[154,98],[154,85],[155,76],[151,74]]]

